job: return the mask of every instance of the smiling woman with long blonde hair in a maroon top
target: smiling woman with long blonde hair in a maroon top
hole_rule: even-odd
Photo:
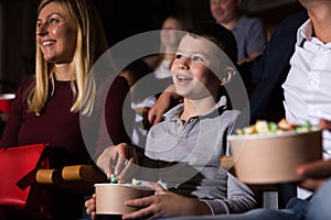
[[[53,162],[57,168],[89,164],[79,117],[88,118],[94,112],[97,89],[92,87],[89,94],[84,89],[92,66],[108,48],[95,6],[89,0],[42,0],[38,9],[35,42],[35,75],[15,94],[1,148],[46,142],[54,152],[61,152]],[[118,106],[122,106],[120,102],[129,86],[122,77],[115,81],[117,91],[114,92],[118,96],[113,96],[114,100],[108,102],[116,108],[110,107],[107,112],[115,116],[113,120],[118,124],[117,120],[121,119],[118,116],[122,112]],[[93,130],[89,144],[95,147],[97,132]],[[83,215],[83,195],[54,188],[47,202],[52,219],[78,219]],[[20,216],[15,209],[10,211],[11,208],[7,210],[1,206],[0,212],[6,213],[1,219],[12,219],[11,215],[17,219],[38,219],[26,213]]]

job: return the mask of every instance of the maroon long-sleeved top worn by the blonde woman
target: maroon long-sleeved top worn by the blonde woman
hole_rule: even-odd
[[[26,91],[33,86],[34,80],[34,77],[29,78],[18,89],[15,99],[13,100],[9,112],[9,119],[2,134],[0,147],[49,142],[52,146],[65,148],[67,152],[76,155],[79,163],[87,163],[89,155],[86,151],[81,131],[79,113],[70,111],[74,100],[71,82],[55,80],[54,94],[49,98],[41,116],[38,117],[33,112],[26,112],[28,103],[25,96]],[[124,131],[121,117],[121,107],[128,91],[129,86],[126,79],[116,77],[111,89],[107,92],[105,106],[107,112],[106,124],[114,143],[130,141],[127,133]],[[98,112],[98,108],[95,108],[94,111]],[[94,124],[89,124],[90,128],[85,125],[83,132],[89,133],[88,142],[93,143],[94,146],[98,143],[98,151],[102,151],[103,147],[111,144],[109,141],[105,141],[109,140],[106,139],[107,131],[102,131],[103,129],[95,130],[96,127],[99,127],[99,123],[94,121]],[[105,129],[105,127],[100,128]],[[109,128],[111,128],[111,130]],[[97,141],[97,139],[100,140]],[[89,151],[94,154],[95,150],[96,148]]]

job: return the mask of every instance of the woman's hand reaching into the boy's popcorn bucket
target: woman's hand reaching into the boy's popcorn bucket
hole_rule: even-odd
[[[132,172],[128,170],[134,163],[137,163],[136,148],[126,143],[108,146],[97,160],[98,167],[105,172],[108,179],[115,174],[120,183],[130,178]]]

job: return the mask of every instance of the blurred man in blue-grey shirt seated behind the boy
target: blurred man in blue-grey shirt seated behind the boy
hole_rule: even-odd
[[[241,12],[242,0],[210,0],[210,10],[216,22],[231,30],[238,45],[238,64],[261,55],[266,44],[263,22]]]

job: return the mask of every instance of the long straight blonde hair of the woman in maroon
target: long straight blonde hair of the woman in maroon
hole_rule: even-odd
[[[38,14],[50,2],[62,6],[64,13],[77,31],[72,78],[75,100],[71,111],[81,110],[83,114],[88,114],[93,110],[97,86],[92,79],[88,81],[88,92],[84,91],[87,76],[97,58],[108,48],[100,18],[95,6],[88,0],[42,0]],[[41,48],[36,45],[35,85],[28,95],[28,111],[36,116],[41,113],[49,96],[54,92],[54,64],[44,59]]]

